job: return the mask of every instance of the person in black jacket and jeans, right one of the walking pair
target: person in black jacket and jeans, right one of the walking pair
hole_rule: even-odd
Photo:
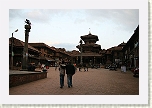
[[[68,87],[70,88],[72,87],[72,76],[75,74],[75,67],[71,62],[66,65],[66,74]]]

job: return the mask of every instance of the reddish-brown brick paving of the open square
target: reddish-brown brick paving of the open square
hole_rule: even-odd
[[[130,71],[89,69],[73,76],[73,87],[68,88],[67,77],[65,86],[59,84],[59,71],[49,68],[47,78],[30,82],[9,89],[10,95],[138,95],[139,78],[133,77]]]

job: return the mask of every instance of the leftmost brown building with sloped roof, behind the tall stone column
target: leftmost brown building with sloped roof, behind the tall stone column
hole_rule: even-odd
[[[13,66],[21,66],[23,60],[24,42],[14,37],[9,38],[9,66],[11,66],[12,57],[12,39],[13,39]],[[40,51],[28,45],[28,62],[37,63],[39,60]]]

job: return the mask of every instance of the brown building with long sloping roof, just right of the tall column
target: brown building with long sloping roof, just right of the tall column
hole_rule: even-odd
[[[64,48],[50,47],[45,43],[29,44],[41,52],[40,63],[48,63],[51,66],[54,66],[55,62],[60,62],[61,60],[68,61],[71,57]]]

